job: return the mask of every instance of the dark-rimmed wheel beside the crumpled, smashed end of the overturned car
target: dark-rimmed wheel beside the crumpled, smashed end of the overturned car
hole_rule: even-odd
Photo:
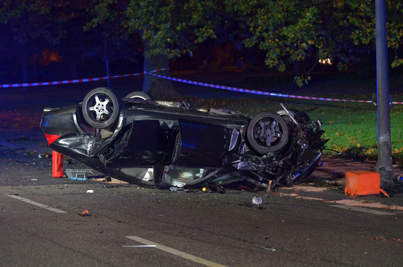
[[[289,140],[287,122],[269,111],[260,112],[250,120],[246,135],[252,149],[262,155],[280,152]]]

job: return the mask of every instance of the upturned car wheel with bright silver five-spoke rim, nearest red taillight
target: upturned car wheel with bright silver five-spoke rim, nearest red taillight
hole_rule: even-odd
[[[81,106],[84,120],[92,127],[105,129],[118,122],[122,100],[109,88],[95,88],[89,91]]]

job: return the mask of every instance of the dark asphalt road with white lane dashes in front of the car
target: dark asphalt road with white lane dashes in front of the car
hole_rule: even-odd
[[[0,148],[0,266],[402,266],[403,211],[58,179]]]

